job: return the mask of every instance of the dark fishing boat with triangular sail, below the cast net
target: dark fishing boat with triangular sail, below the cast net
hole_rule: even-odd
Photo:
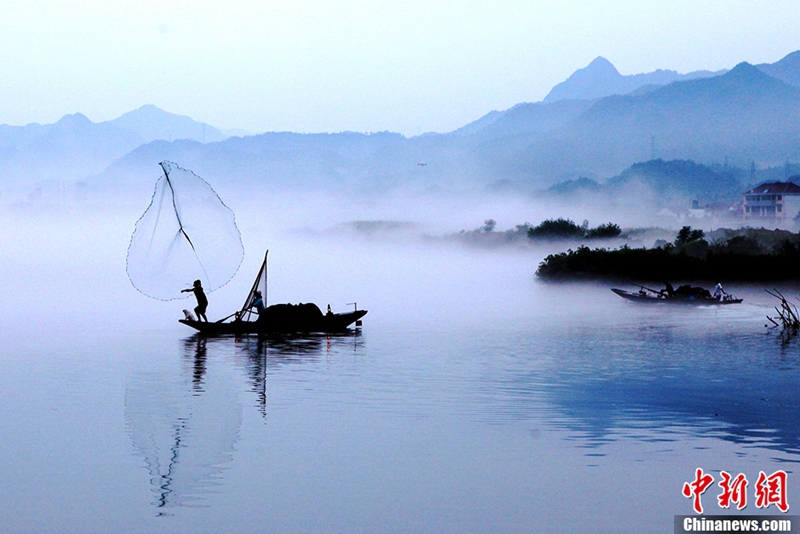
[[[198,321],[188,313],[185,319],[179,321],[203,334],[343,332],[353,323],[361,326],[360,319],[367,314],[367,310],[357,308],[351,312],[332,313],[330,307],[328,313],[323,314],[316,304],[274,304],[257,313],[254,311],[256,294],[261,294],[259,287],[263,282],[266,296],[266,281],[267,256],[264,255],[264,263],[261,264],[258,276],[241,310],[214,323]],[[229,320],[231,317],[233,319]]]

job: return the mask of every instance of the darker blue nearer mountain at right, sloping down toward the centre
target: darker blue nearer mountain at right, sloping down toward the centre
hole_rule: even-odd
[[[800,88],[742,63],[721,76],[600,99],[543,134],[473,138],[494,173],[539,187],[657,158],[774,166],[800,159]]]

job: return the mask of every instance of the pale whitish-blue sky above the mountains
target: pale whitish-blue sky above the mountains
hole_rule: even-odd
[[[145,104],[251,133],[447,132],[622,74],[772,63],[797,0],[30,1],[0,4],[0,124]]]

